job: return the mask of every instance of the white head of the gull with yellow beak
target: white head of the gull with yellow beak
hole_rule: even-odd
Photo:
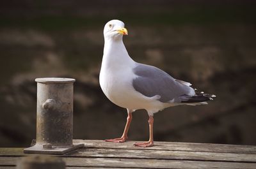
[[[105,39],[122,40],[122,36],[127,35],[128,31],[121,20],[110,20],[105,25],[103,33]]]

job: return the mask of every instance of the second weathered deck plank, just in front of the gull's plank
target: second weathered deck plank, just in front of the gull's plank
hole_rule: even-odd
[[[78,149],[67,154],[70,157],[87,158],[138,158],[138,159],[181,159],[199,161],[254,162],[256,154],[235,154],[227,152],[152,151],[126,149]]]

